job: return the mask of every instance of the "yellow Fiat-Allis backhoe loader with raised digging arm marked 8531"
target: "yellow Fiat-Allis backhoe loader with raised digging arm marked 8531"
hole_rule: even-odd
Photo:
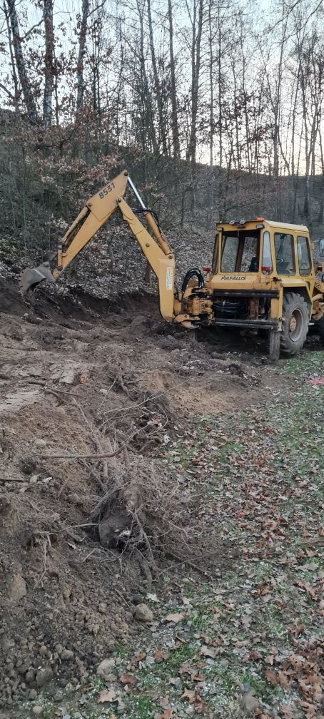
[[[127,188],[138,202],[135,209],[124,199]],[[315,263],[307,227],[263,217],[220,222],[211,266],[189,270],[179,290],[174,253],[127,171],[86,201],[51,262],[23,270],[22,294],[43,280],[57,280],[114,211],[127,222],[156,275],[160,312],[167,322],[189,329],[220,325],[264,330],[273,361],[280,349],[297,354],[310,324],[317,325],[324,340],[324,262]],[[320,250],[324,257],[323,240]]]

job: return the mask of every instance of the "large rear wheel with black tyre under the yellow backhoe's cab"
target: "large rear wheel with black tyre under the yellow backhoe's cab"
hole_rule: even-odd
[[[284,294],[282,319],[280,348],[283,354],[297,354],[304,347],[309,323],[308,306],[301,295],[295,292]]]

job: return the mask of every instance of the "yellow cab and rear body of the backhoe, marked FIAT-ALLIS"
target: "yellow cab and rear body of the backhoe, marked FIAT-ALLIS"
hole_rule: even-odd
[[[220,222],[207,277],[214,324],[276,329],[284,288],[305,282],[310,294],[312,255],[307,227],[253,220]]]

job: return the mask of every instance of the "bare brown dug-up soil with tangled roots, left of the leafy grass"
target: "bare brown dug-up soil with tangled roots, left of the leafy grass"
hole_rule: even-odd
[[[287,380],[273,376],[261,343],[248,354],[251,339],[198,342],[166,326],[151,294],[113,302],[39,290],[26,303],[13,278],[1,280],[0,310],[0,693],[8,705],[54,676],[85,682],[140,631],[133,615],[150,584],[145,549],[104,549],[89,526],[114,478],[134,494],[173,432],[199,414],[263,401],[271,383],[280,390]],[[114,457],[89,457],[118,446]],[[120,528],[119,511],[110,521]]]

